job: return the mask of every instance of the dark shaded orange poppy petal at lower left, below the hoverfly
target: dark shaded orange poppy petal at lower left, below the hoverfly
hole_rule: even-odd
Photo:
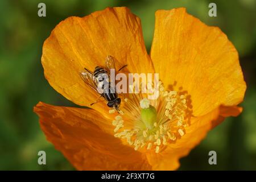
[[[93,109],[34,107],[47,140],[79,170],[148,170],[143,155],[113,137],[109,120]]]

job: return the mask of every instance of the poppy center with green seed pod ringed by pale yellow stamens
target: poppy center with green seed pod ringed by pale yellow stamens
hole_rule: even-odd
[[[168,142],[174,142],[185,134],[191,110],[187,94],[164,91],[159,84],[159,97],[148,100],[145,94],[129,94],[121,110],[112,122],[114,137],[134,147],[134,150],[164,150]]]

